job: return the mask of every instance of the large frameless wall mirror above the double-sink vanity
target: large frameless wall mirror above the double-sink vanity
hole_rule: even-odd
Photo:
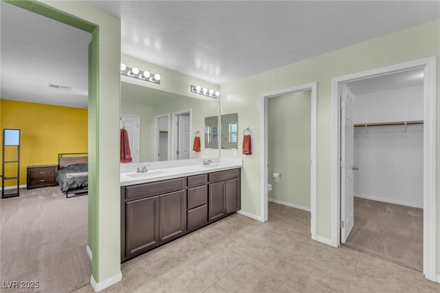
[[[120,127],[133,162],[219,157],[218,100],[201,100],[121,83]],[[200,147],[193,150],[195,137]]]

